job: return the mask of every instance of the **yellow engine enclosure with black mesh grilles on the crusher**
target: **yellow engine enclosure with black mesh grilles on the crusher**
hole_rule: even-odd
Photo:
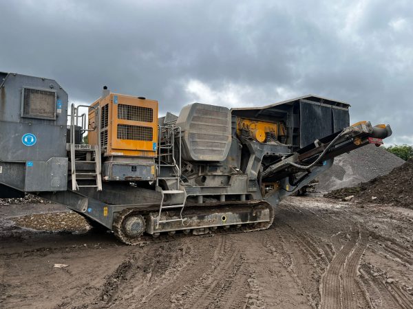
[[[100,145],[105,156],[156,157],[158,144],[158,101],[109,93],[92,106],[100,107]],[[89,129],[96,126],[89,109]],[[97,131],[88,133],[96,145]]]

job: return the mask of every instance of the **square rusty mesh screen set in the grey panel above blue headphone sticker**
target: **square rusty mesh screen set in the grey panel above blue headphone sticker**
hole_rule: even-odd
[[[56,94],[53,91],[23,90],[23,117],[55,119]]]

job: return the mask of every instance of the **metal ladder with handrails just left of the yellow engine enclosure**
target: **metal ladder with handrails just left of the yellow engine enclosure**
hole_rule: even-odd
[[[93,108],[95,113],[96,124],[94,128],[85,128],[85,122],[83,119],[85,118],[85,114],[79,116],[78,115],[78,108],[80,107],[87,107]],[[78,191],[80,187],[96,187],[97,191],[102,191],[102,164],[100,161],[100,115],[99,115],[99,107],[98,106],[87,106],[87,105],[78,105],[77,107],[74,106],[72,103],[72,109],[70,113],[70,167],[72,170],[72,190]],[[89,144],[76,144],[76,126],[78,126],[78,118],[81,117],[81,135],[87,131],[94,131],[97,132],[97,145],[89,145]],[[75,122],[76,119],[76,122]],[[78,159],[76,159],[76,153]],[[81,159],[79,159],[81,157]],[[83,165],[92,166],[92,168],[83,169],[77,171],[76,170],[76,163],[84,163]],[[80,180],[94,180],[94,183],[87,184],[87,185],[80,185],[78,181]]]

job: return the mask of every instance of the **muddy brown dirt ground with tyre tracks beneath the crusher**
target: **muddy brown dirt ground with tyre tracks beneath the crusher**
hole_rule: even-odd
[[[128,247],[21,207],[0,207],[1,308],[413,308],[412,209],[293,197],[266,231]]]

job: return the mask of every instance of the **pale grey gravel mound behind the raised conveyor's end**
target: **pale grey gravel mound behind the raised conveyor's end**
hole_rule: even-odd
[[[332,167],[318,177],[317,191],[330,192],[354,187],[391,172],[405,163],[384,148],[373,144],[335,158]]]

